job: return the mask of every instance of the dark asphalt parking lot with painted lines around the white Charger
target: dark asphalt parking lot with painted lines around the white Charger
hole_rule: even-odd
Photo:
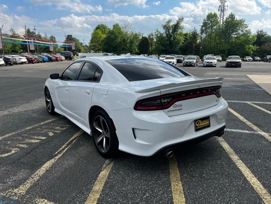
[[[224,77],[225,134],[170,159],[121,152],[107,160],[91,136],[46,111],[46,78],[70,62],[0,67],[1,204],[271,203],[271,96],[247,76],[271,75],[271,63],[185,67]]]

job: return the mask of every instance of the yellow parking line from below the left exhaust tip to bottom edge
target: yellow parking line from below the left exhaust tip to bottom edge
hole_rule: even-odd
[[[185,204],[183,186],[180,179],[179,168],[175,155],[169,158],[170,182],[174,204]]]

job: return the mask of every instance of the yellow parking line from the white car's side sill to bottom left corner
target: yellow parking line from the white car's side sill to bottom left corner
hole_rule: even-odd
[[[56,155],[51,160],[47,161],[44,165],[42,165],[41,168],[39,168],[35,173],[33,173],[26,181],[25,183],[21,184],[18,188],[14,190],[8,190],[4,195],[12,196],[14,198],[21,197],[25,195],[25,192],[30,188],[31,185],[33,185],[56,161],[59,157],[61,157],[65,151],[77,140],[77,138],[83,134],[83,130],[79,130],[74,136],[74,141],[72,141],[69,146],[63,149],[61,153]]]

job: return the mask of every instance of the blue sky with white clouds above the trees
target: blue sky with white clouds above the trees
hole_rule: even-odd
[[[271,0],[228,0],[228,11],[245,18],[250,29],[264,29],[271,34]],[[41,34],[53,34],[58,40],[64,33],[88,42],[99,23],[112,26],[132,22],[136,31],[148,34],[161,29],[168,18],[175,21],[184,16],[189,30],[201,24],[209,12],[218,12],[218,0],[1,0],[0,23],[3,30],[18,32],[24,25]]]

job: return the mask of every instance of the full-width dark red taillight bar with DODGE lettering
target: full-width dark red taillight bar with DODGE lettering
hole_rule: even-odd
[[[207,88],[197,88],[188,91],[164,94],[150,98],[144,98],[136,102],[134,110],[136,111],[154,111],[170,108],[178,101],[198,98],[202,96],[216,95],[221,97],[221,86],[212,86]]]

